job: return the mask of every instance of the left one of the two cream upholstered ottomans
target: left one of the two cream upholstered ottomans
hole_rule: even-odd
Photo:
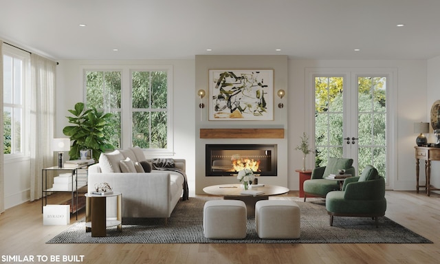
[[[246,221],[243,201],[212,200],[203,207],[203,234],[208,239],[244,239]]]

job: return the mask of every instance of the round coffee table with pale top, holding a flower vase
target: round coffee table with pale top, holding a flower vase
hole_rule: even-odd
[[[259,185],[264,185],[264,186],[259,186]],[[220,184],[220,185],[207,186],[203,188],[203,192],[206,192],[208,195],[223,196],[223,199],[244,201],[246,204],[248,217],[254,217],[255,203],[257,201],[267,200],[269,199],[270,196],[283,195],[289,192],[288,188],[282,186],[266,185],[266,184],[259,184],[259,185],[252,186],[252,188],[250,188],[250,190],[259,190],[263,192],[262,194],[256,196],[242,195],[241,194],[241,192],[243,191],[242,184]]]

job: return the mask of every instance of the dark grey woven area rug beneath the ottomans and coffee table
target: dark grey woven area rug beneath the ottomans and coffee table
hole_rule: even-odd
[[[292,199],[300,207],[299,239],[260,239],[254,218],[248,218],[245,239],[206,239],[203,236],[203,205],[217,197],[190,197],[179,201],[168,223],[164,219],[122,219],[122,232],[107,228],[106,237],[91,237],[85,232],[84,219],[56,235],[47,243],[432,243],[386,217],[380,217],[379,228],[369,217],[335,217],[329,215],[323,199]]]

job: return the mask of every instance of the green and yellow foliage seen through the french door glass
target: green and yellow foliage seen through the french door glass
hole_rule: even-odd
[[[371,164],[386,176],[386,78],[358,78],[358,171]],[[343,79],[315,79],[316,166],[325,166],[328,157],[342,157]]]

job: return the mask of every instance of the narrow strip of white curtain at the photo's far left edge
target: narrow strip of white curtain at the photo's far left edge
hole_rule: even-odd
[[[3,41],[0,39],[0,213],[5,210],[5,178],[3,175],[3,150],[5,149],[3,134]]]

